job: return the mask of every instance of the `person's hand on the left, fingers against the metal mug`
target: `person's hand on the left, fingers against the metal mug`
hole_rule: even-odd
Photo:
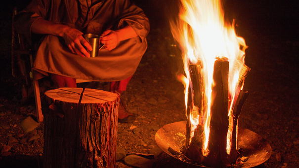
[[[90,54],[83,46],[85,46],[89,51],[92,50],[92,47],[85,40],[82,32],[71,27],[65,27],[63,29],[62,37],[64,38],[66,45],[69,47],[72,53],[78,54],[81,57],[90,57]]]

